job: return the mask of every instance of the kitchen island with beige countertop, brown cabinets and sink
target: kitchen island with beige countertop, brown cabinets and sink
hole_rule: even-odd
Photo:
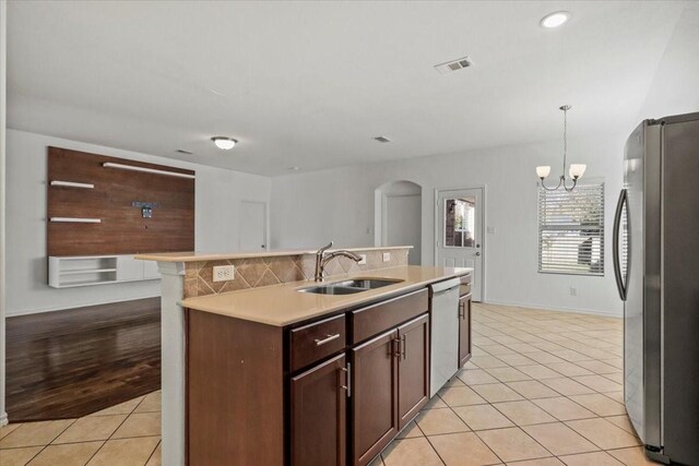
[[[284,280],[298,276],[289,266],[307,277],[306,251],[141,258],[163,273],[164,464],[367,464],[417,415],[429,397],[427,287],[470,270],[407,266],[408,248],[362,251],[366,266],[341,264],[328,285],[386,282],[341,295]],[[261,284],[260,260],[279,283]],[[209,280],[203,296],[192,292],[187,280],[210,278],[222,261],[248,286],[226,291]]]

